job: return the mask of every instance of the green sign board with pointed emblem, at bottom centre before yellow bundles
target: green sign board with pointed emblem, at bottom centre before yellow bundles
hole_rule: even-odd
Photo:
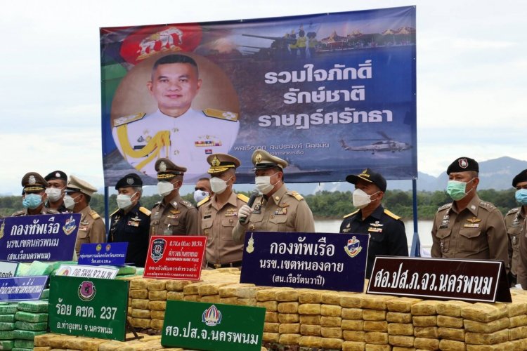
[[[266,309],[167,301],[161,344],[193,350],[261,350]]]

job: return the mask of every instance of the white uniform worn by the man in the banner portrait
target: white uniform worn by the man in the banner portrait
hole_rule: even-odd
[[[138,119],[140,115],[131,116],[131,118],[122,117],[120,121],[117,119],[112,128],[112,135],[124,159],[138,171],[155,178],[157,176],[154,168],[155,161],[160,157],[167,157],[178,166],[186,167],[185,178],[192,180],[207,173],[209,154],[228,154],[235,143],[240,129],[238,116],[230,112],[224,112],[223,116],[222,118],[208,117],[201,111],[189,109],[179,117],[170,117],[157,110],[141,119]],[[117,129],[123,126],[126,126],[125,135],[128,135],[130,147],[134,152],[143,149],[157,135],[157,142],[149,145],[152,151],[148,154],[143,152],[145,155],[142,157],[132,157],[126,154],[117,133]],[[165,135],[169,135],[169,140],[160,138],[158,133],[163,131]],[[152,153],[153,157],[151,157]],[[151,159],[143,162],[148,157]]]

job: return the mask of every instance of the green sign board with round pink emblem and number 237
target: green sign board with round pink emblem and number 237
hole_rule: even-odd
[[[49,286],[53,333],[124,340],[129,282],[54,276]]]

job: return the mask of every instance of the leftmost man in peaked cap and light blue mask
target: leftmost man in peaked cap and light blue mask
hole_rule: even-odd
[[[22,177],[22,211],[17,211],[11,216],[32,216],[57,213],[57,211],[46,208],[46,187],[48,182],[37,172],[25,173]]]

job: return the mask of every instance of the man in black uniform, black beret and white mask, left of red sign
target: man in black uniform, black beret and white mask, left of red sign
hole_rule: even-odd
[[[150,211],[139,200],[143,194],[143,181],[135,173],[126,174],[115,185],[117,211],[110,216],[108,242],[127,242],[126,263],[145,267],[150,230]]]

